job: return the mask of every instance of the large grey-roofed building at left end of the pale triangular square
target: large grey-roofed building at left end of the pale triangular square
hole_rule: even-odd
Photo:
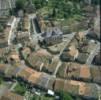
[[[43,43],[44,45],[54,45],[62,42],[63,32],[57,27],[52,27],[47,29],[46,32],[41,34],[41,38],[39,39],[39,43]]]

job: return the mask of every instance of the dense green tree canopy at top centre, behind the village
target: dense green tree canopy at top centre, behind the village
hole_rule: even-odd
[[[82,7],[79,0],[76,0],[76,2],[71,0],[48,0],[47,2],[46,0],[33,0],[33,3],[37,9],[42,9],[44,7],[48,8],[46,9],[48,13],[51,14],[50,11],[52,11],[51,17],[56,19],[70,18],[75,14],[82,13]]]

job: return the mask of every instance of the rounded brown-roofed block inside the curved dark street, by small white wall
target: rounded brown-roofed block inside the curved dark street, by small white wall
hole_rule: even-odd
[[[52,56],[44,49],[30,53],[26,59],[28,64],[38,71],[43,71],[43,67],[47,67],[51,60]]]

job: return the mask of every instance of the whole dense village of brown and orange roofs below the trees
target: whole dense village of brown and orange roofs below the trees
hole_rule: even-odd
[[[0,0],[0,100],[101,100],[99,6],[69,26],[31,0],[15,14],[16,1]]]

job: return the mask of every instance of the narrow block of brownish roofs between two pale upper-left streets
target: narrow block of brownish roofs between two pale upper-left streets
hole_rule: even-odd
[[[19,23],[17,26],[17,32],[14,42],[23,43],[29,41],[30,36],[30,20],[28,15],[25,15],[23,18],[19,18]]]

